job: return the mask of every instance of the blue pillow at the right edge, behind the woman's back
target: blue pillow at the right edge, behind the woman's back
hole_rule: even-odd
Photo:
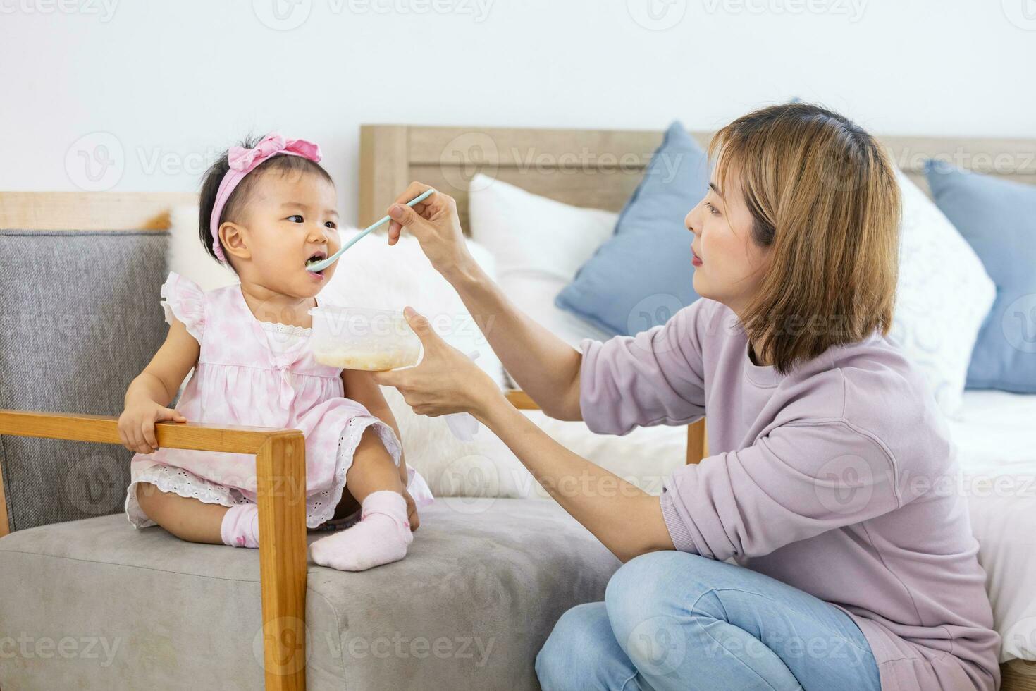
[[[1036,186],[940,161],[928,161],[924,172],[936,204],[997,284],[972,351],[968,388],[1036,394]]]

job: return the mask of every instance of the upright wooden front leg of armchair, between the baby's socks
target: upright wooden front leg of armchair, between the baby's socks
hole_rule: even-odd
[[[270,437],[256,454],[267,691],[306,689],[306,440]]]

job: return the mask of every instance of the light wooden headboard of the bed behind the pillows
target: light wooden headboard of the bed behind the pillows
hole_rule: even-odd
[[[712,133],[692,132],[704,148]],[[1036,184],[1036,140],[879,137],[892,160],[927,193],[927,159]],[[457,200],[467,231],[467,189],[476,172],[575,206],[622,209],[662,140],[640,129],[537,129],[407,124],[359,128],[359,218],[384,214],[411,180]]]

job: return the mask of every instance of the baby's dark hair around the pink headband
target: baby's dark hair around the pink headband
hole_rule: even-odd
[[[240,146],[251,149],[262,140],[262,137],[256,137],[249,135],[244,138],[244,141],[240,143]],[[211,227],[212,218],[212,207],[215,206],[215,194],[220,190],[220,182],[223,181],[223,176],[227,174],[230,170],[230,163],[227,160],[229,154],[229,149],[224,151],[220,157],[209,166],[209,169],[205,171],[205,177],[202,178],[201,183],[201,195],[199,199],[199,209],[198,209],[198,236],[201,238],[202,244],[205,246],[205,252],[209,254],[212,259],[219,261],[215,253],[212,251],[212,240],[214,238],[213,233],[220,229],[217,225],[215,228]],[[299,172],[299,173],[314,173],[319,175],[323,179],[327,180],[332,184],[335,181],[332,179],[330,175],[323,169],[323,167],[314,162],[306,159],[305,156],[293,156],[280,154],[276,156],[270,156],[266,161],[256,166],[255,170],[244,176],[234,191],[230,193],[230,199],[223,206],[223,212],[220,214],[219,224],[223,224],[225,221],[234,221],[240,218],[241,209],[246,207],[249,201],[249,197],[252,194],[252,189],[255,188],[256,182],[265,173],[278,172],[283,174]],[[224,252],[224,255],[227,253]],[[230,261],[229,256],[227,261]]]

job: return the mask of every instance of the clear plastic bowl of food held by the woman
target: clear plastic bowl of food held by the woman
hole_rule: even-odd
[[[345,370],[382,372],[418,364],[421,339],[402,312],[354,307],[312,308],[313,356]]]

